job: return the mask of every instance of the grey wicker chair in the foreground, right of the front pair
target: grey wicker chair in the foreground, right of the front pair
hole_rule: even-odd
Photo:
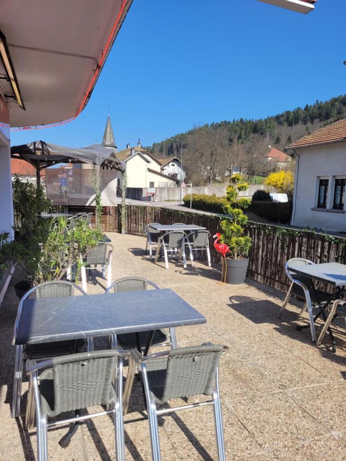
[[[223,442],[218,363],[222,353],[227,349],[226,346],[203,344],[201,346],[158,352],[147,355],[147,357],[140,357],[136,351],[131,351],[130,362],[133,361],[137,365],[144,383],[152,459],[154,461],[161,459],[157,417],[206,405],[213,405],[214,407],[218,459],[219,461],[226,459],[225,444]],[[201,394],[210,395],[211,400],[175,408],[157,409],[157,405],[166,404],[169,400],[185,399],[186,397]]]

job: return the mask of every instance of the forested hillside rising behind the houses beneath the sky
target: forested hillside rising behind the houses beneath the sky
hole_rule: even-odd
[[[342,118],[346,118],[346,95],[264,119],[206,124],[172,138],[184,141],[187,181],[198,185],[223,180],[232,165],[246,169],[250,176],[267,174],[273,167],[263,161],[269,145],[284,151],[292,141]],[[147,149],[156,157],[180,157],[180,143],[175,141],[164,140]]]

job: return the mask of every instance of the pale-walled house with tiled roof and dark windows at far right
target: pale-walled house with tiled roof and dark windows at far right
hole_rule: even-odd
[[[291,224],[346,232],[346,119],[286,149],[296,153]]]

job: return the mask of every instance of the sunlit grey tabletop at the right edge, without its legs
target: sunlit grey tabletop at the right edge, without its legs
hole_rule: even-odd
[[[339,263],[292,264],[290,270],[334,286],[346,286],[346,265]]]

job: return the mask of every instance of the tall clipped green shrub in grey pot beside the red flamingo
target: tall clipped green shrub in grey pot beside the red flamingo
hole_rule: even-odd
[[[226,243],[229,247],[229,254],[225,258],[226,274],[224,274],[223,280],[226,283],[241,284],[245,281],[249,265],[248,252],[252,243],[250,237],[243,235],[248,217],[239,207],[238,192],[246,191],[248,184],[242,181],[239,174],[231,176],[231,181],[233,184],[229,185],[226,190],[229,217],[220,222],[221,242]],[[245,202],[241,200],[241,204],[244,207]]]

